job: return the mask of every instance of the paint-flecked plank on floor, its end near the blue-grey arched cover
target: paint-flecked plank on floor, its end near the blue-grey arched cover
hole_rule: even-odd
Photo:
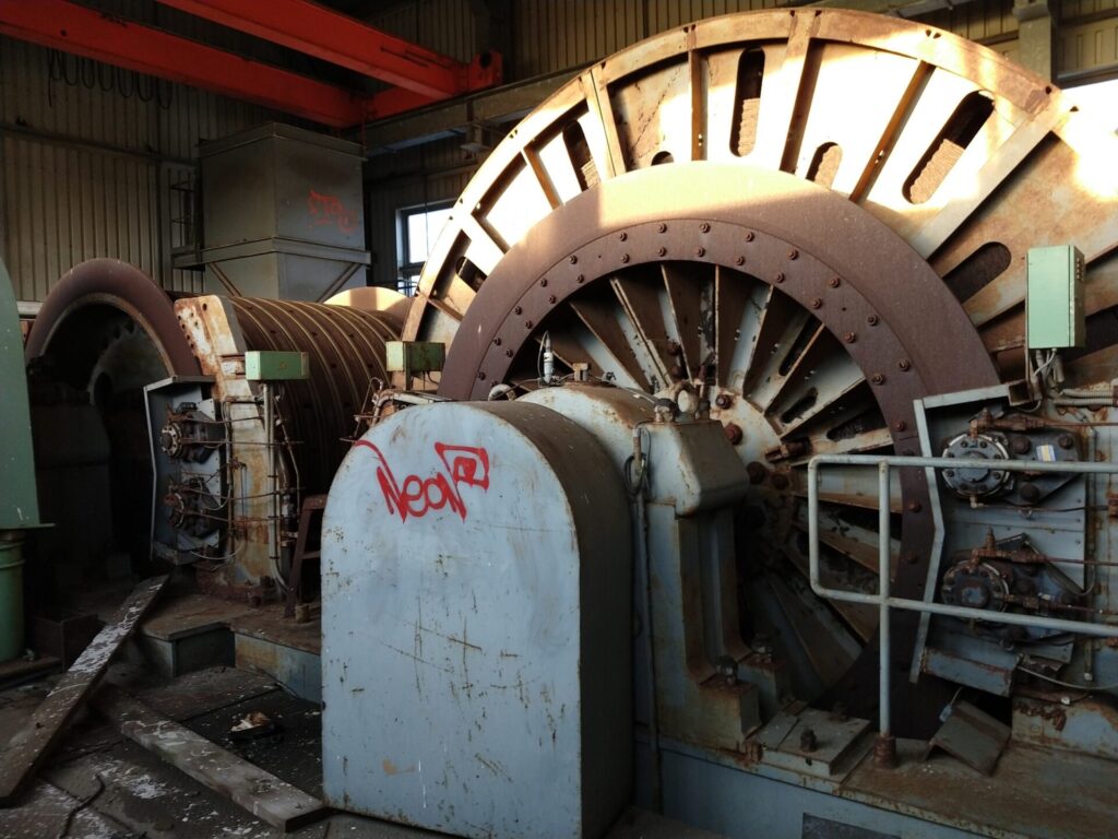
[[[93,705],[125,737],[273,827],[295,830],[329,814],[329,809],[316,798],[155,713],[112,685],[97,692]]]

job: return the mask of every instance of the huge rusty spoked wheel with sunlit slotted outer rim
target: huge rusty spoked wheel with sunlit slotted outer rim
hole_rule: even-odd
[[[1059,89],[948,32],[714,18],[598,63],[508,135],[455,204],[404,337],[448,345],[455,398],[538,387],[544,342],[560,377],[701,386],[754,482],[747,635],[778,639],[805,698],[856,696],[877,615],[811,592],[807,460],[916,453],[913,399],[1020,378],[1030,247],[1086,255],[1089,346],[1068,376],[1109,378],[1116,160],[1118,138]],[[873,591],[877,475],[826,475],[825,575]],[[909,596],[932,524],[923,477],[897,483]],[[894,649],[903,666],[911,648]]]

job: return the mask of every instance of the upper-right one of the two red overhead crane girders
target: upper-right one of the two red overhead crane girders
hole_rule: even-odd
[[[477,78],[471,72],[473,65],[309,0],[159,2],[430,98],[445,98],[496,81]]]

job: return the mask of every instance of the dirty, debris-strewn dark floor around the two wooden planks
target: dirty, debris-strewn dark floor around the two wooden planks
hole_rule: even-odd
[[[145,668],[114,664],[110,681],[161,714],[237,751],[243,757],[312,795],[321,793],[321,717],[316,705],[283,691],[266,677],[235,668],[210,668],[155,680]],[[50,688],[40,680],[0,692],[0,743],[25,724]],[[229,727],[249,710],[263,710],[282,736],[234,746]],[[0,753],[2,760],[2,753]],[[70,726],[22,802],[0,810],[4,839],[268,839],[282,831],[257,820],[227,798],[125,739],[92,713]],[[427,831],[348,813],[287,836],[297,839],[415,839]],[[652,813],[622,814],[607,839],[710,839]]]

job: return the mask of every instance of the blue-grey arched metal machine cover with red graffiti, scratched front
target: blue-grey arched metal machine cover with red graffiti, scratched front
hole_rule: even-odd
[[[330,803],[470,837],[593,837],[632,773],[629,508],[600,444],[519,403],[354,445],[322,536]]]

